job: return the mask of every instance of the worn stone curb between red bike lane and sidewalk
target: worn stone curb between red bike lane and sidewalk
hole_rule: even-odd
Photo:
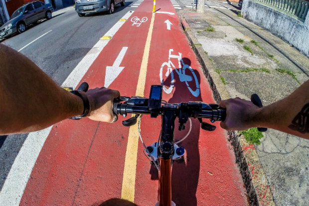
[[[219,103],[221,99],[230,98],[219,74],[215,72],[215,68],[210,60],[208,60],[208,56],[190,30],[190,26],[185,18],[180,19],[180,24],[203,68],[215,101]],[[266,174],[254,145],[249,145],[244,136],[236,135],[235,131],[228,131],[228,140],[234,148],[236,163],[238,164],[249,197],[248,204],[250,206],[275,206],[272,193],[273,187],[270,187],[268,184]]]

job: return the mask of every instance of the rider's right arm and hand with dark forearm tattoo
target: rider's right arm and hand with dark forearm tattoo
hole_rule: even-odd
[[[219,106],[227,112],[221,122],[224,129],[266,127],[309,139],[309,80],[288,97],[263,108],[240,98],[223,100]]]

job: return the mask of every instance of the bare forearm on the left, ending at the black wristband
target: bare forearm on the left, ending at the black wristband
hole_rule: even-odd
[[[27,57],[0,45],[0,134],[46,128],[80,115],[82,100],[60,88]]]

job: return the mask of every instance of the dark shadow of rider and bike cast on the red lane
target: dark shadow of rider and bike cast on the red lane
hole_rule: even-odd
[[[184,64],[190,66],[191,61],[188,58],[182,58]],[[193,71],[193,72],[192,72]],[[168,103],[179,103],[179,102],[189,102],[189,101],[202,101],[200,92],[198,95],[193,96],[189,91],[188,87],[190,87],[193,91],[199,90],[196,88],[195,81],[200,83],[200,76],[197,70],[192,69],[185,70],[186,75],[190,75],[192,77],[191,81],[188,81],[188,86],[186,82],[179,79],[179,76],[176,75],[176,72],[173,71],[173,79],[174,79],[174,88],[172,90],[172,97],[168,100]],[[192,75],[195,73],[196,78]],[[171,82],[171,74],[168,75],[166,79],[163,80],[163,85],[168,88]],[[164,91],[163,91],[164,93]],[[163,94],[164,96],[164,94]],[[163,97],[164,98],[164,97]],[[191,118],[192,121],[192,129],[189,136],[177,144],[179,147],[182,146],[185,149],[185,154],[183,158],[173,162],[172,165],[172,201],[177,206],[196,206],[196,190],[199,178],[199,170],[200,170],[200,155],[198,149],[198,139],[199,139],[199,131],[200,131],[200,123],[197,119]],[[178,119],[175,121],[175,142],[182,139],[187,132],[189,131],[190,124],[189,121],[185,124],[185,130],[178,130]],[[151,168],[150,174],[152,174],[152,179],[158,179],[157,170],[155,167]]]

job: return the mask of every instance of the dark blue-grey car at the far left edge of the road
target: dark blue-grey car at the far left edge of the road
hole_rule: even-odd
[[[26,26],[42,18],[51,19],[54,8],[50,3],[33,1],[26,3],[13,12],[10,19],[0,27],[0,38],[10,36],[15,32],[22,33]]]

